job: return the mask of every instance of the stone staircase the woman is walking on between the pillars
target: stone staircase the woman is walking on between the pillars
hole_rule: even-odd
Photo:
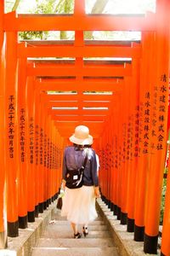
[[[88,226],[88,236],[74,239],[70,223],[57,210],[32,248],[31,256],[117,256],[111,234],[99,216]]]

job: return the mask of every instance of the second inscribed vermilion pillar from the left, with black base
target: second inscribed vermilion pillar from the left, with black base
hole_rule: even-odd
[[[23,47],[25,45],[23,44]],[[19,59],[19,78],[18,78],[18,124],[19,124],[19,227],[27,227],[27,132],[28,114],[26,109],[26,58]]]

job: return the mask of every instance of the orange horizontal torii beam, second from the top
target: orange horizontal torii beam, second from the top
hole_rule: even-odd
[[[127,57],[139,58],[140,47],[125,47],[111,45],[68,46],[48,45],[23,47],[18,45],[18,55],[27,57]]]

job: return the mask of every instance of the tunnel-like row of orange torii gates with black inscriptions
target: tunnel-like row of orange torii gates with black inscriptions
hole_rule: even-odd
[[[0,1],[0,247],[7,247],[7,233],[18,236],[54,201],[63,148],[82,124],[99,154],[103,200],[134,240],[144,241],[144,252],[156,253],[167,151],[170,1],[157,0],[156,14],[147,15],[86,15],[84,6],[85,0],[75,0],[73,15],[16,15],[4,14]],[[75,40],[18,42],[17,32],[54,30],[74,31]],[[142,37],[85,41],[84,31],[139,31]],[[167,175],[162,255],[170,255],[169,214]]]

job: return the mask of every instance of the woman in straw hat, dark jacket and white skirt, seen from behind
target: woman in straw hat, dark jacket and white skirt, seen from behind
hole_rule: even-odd
[[[98,216],[95,209],[95,197],[99,197],[99,179],[94,149],[84,147],[84,145],[93,143],[88,127],[77,126],[70,141],[73,146],[65,148],[63,158],[62,186],[65,189],[65,196],[61,216],[66,216],[71,222],[74,238],[81,238],[82,234],[78,230],[78,224],[82,224],[82,232],[84,236],[87,236],[88,223]],[[88,159],[83,170],[83,185],[79,189],[69,189],[65,186],[66,172],[83,166],[87,150]]]

